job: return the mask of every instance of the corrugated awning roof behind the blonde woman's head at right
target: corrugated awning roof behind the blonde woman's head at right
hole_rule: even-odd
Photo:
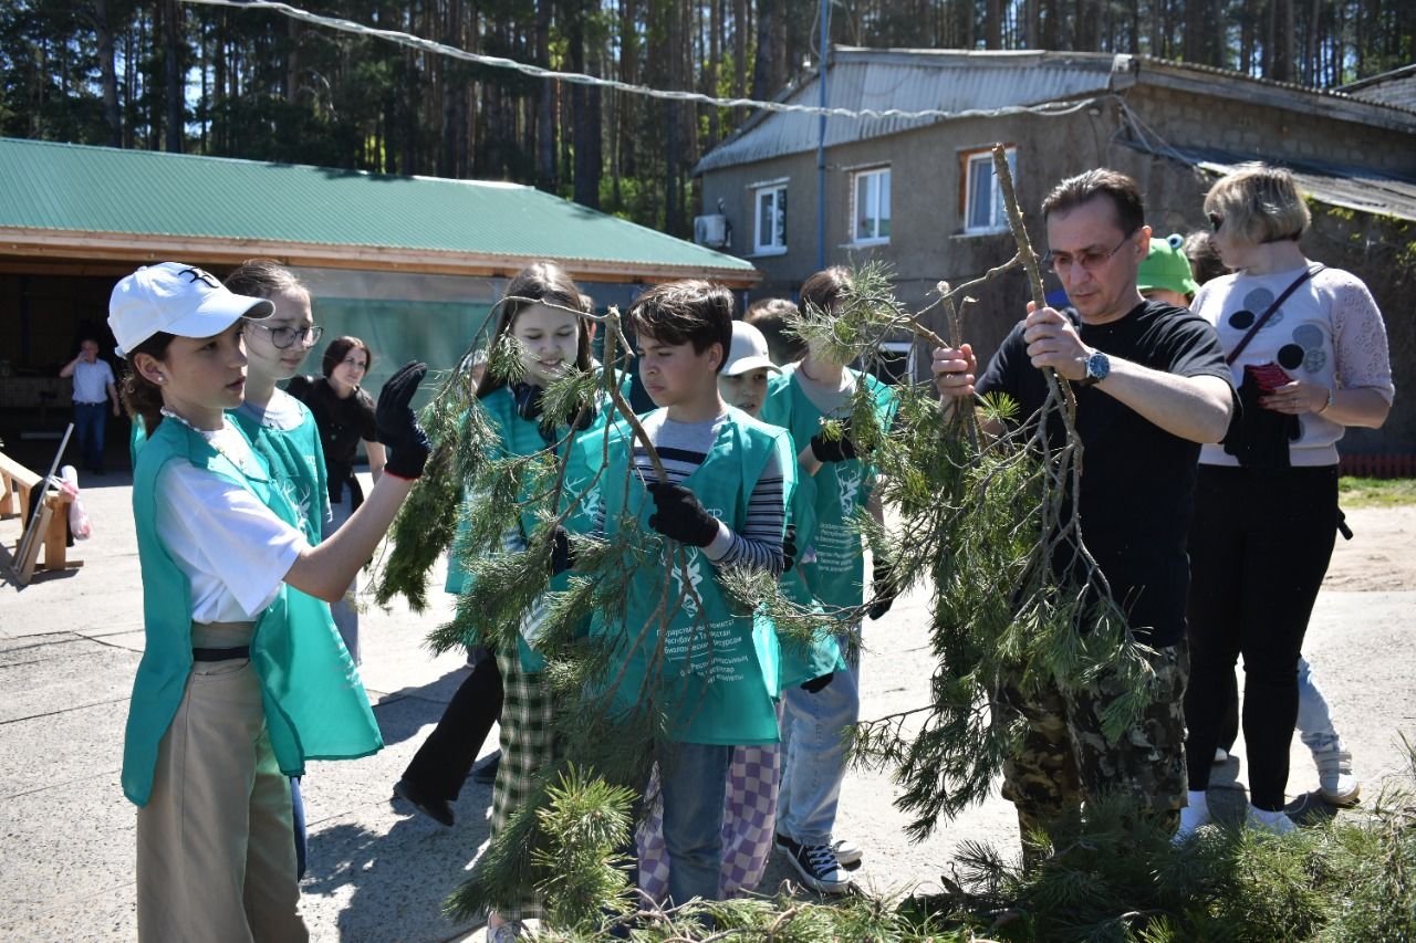
[[[1239,168],[1239,164],[1252,160],[1277,163],[1293,173],[1293,178],[1304,193],[1331,207],[1416,221],[1416,180],[1406,177],[1393,177],[1368,167],[1318,160],[1273,160],[1257,154],[1236,154],[1205,147],[1167,147],[1160,152],[1136,143],[1130,146],[1163,157],[1180,157],[1194,167],[1221,177],[1232,174]]]

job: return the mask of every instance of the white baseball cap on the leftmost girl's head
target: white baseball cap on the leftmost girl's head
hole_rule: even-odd
[[[113,286],[108,326],[118,338],[118,355],[127,357],[157,331],[178,337],[212,337],[238,317],[275,313],[263,297],[236,295],[217,276],[181,262],[144,265]]]

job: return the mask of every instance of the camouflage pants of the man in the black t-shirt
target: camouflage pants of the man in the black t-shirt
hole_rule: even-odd
[[[1003,765],[1003,797],[1018,808],[1022,834],[1076,813],[1090,797],[1129,796],[1141,816],[1158,817],[1171,831],[1185,806],[1185,682],[1189,653],[1184,641],[1150,657],[1153,699],[1138,724],[1112,743],[1102,715],[1124,691],[1107,673],[1080,691],[1055,687],[1024,694],[1017,677],[1004,677],[994,699],[998,719],[1018,712],[1027,735]]]

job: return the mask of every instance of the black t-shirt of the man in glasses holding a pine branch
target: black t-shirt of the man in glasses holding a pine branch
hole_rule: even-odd
[[[1076,319],[1073,317],[1073,323]],[[1046,399],[1042,371],[1028,358],[1020,321],[977,384],[1004,392],[1034,416]],[[1215,328],[1182,307],[1144,302],[1107,324],[1080,324],[1082,341],[1112,357],[1180,377],[1219,377],[1229,367]],[[1082,538],[1127,610],[1137,637],[1171,646],[1185,634],[1189,558],[1185,535],[1199,445],[1181,439],[1106,392],[1073,384],[1082,439]],[[1061,445],[1062,423],[1049,423]]]

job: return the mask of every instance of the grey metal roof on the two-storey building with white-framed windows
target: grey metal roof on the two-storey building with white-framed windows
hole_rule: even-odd
[[[827,78],[830,108],[939,109],[963,112],[1085,98],[1107,89],[1112,62],[1103,52],[971,52],[957,50],[831,51]],[[779,99],[820,105],[816,75]],[[936,123],[939,118],[828,118],[826,144],[896,135]],[[820,119],[796,112],[765,112],[758,120],[711,150],[694,174],[814,150]]]

